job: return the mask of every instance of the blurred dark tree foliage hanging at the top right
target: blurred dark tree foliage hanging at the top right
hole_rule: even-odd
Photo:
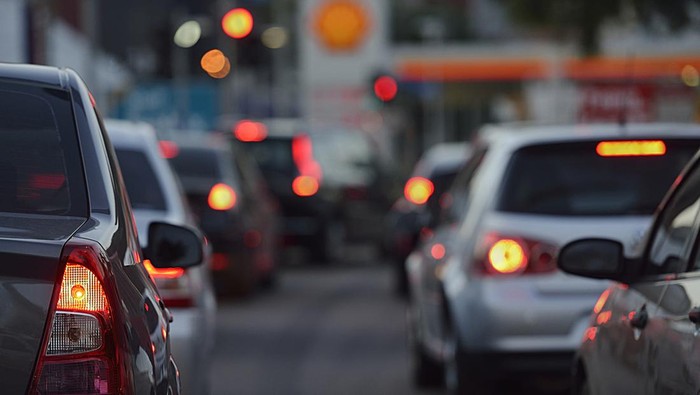
[[[700,0],[500,0],[510,17],[527,27],[574,35],[584,55],[600,50],[600,28],[607,20],[631,11],[643,26],[663,23],[677,31],[692,20],[691,7]]]

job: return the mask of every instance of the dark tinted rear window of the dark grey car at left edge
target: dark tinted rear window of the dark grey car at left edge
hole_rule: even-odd
[[[67,92],[0,84],[0,212],[87,216]]]

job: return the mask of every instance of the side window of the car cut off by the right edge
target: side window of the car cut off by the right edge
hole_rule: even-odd
[[[655,272],[680,273],[687,270],[689,251],[697,235],[700,210],[698,170],[700,169],[695,168],[688,174],[661,214],[649,254]]]

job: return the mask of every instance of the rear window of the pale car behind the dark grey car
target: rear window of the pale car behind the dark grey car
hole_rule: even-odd
[[[116,148],[115,151],[131,207],[165,211],[165,196],[146,154],[123,148]]]

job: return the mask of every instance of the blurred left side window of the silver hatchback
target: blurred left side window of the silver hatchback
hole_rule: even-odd
[[[466,214],[469,207],[470,184],[484,156],[486,156],[485,148],[474,152],[457,175],[449,191],[443,195],[443,201],[440,202],[443,209],[440,215],[441,223],[459,222]]]

